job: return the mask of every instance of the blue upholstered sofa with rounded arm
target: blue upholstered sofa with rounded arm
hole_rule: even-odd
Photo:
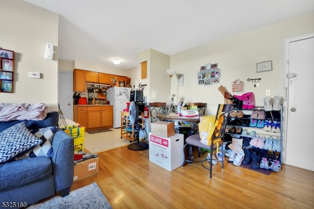
[[[47,113],[41,121],[27,120],[29,130],[58,126],[58,112]],[[0,132],[21,121],[0,122]],[[73,139],[61,129],[53,135],[53,157],[10,160],[0,164],[0,200],[26,202],[27,206],[60,192],[69,194],[73,183]],[[10,207],[12,204],[7,206]]]

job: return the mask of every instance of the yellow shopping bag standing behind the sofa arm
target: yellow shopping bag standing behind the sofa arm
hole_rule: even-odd
[[[79,152],[84,149],[85,127],[83,126],[67,126],[62,128],[69,136],[73,138],[74,151]]]

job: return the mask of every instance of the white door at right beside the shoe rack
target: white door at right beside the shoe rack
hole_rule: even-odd
[[[314,171],[314,34],[286,40],[286,164]],[[293,73],[296,75],[293,75]],[[295,78],[293,78],[295,77]],[[286,130],[285,130],[286,129]]]

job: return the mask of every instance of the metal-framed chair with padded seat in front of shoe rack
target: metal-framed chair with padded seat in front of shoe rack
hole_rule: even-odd
[[[223,106],[222,106],[222,110],[220,111],[221,105],[223,105]],[[215,118],[216,118],[216,120],[219,119],[220,117],[224,117],[224,118],[223,118],[221,128],[219,130],[217,130],[215,128],[216,131],[211,136],[211,144],[209,146],[201,143],[201,138],[200,138],[198,131],[195,131],[194,135],[190,135],[185,139],[185,144],[183,147],[183,164],[182,164],[182,166],[184,166],[185,162],[188,162],[189,164],[193,163],[193,162],[201,162],[202,166],[209,170],[209,178],[211,179],[212,152],[214,150],[218,149],[223,144],[222,138],[224,136],[224,133],[225,133],[225,130],[227,127],[227,123],[228,123],[228,119],[229,119],[232,107],[233,107],[233,104],[218,104],[217,113],[216,113]],[[213,141],[215,139],[221,139],[220,142],[218,143],[218,147],[217,147],[216,143],[213,144]],[[188,159],[185,159],[184,149],[187,145],[189,146],[188,153],[187,153]],[[197,161],[194,160],[193,153],[192,153],[192,147],[193,146],[198,147],[198,158],[200,158],[200,155],[202,155],[204,157],[203,159],[197,160]],[[201,152],[201,148],[206,149],[210,152],[210,159],[205,157],[204,153]],[[224,156],[223,149],[221,149],[221,156],[223,159],[223,156]],[[209,161],[209,168],[204,165],[205,161]],[[221,164],[222,164],[222,168],[224,168],[224,160],[221,161]]]

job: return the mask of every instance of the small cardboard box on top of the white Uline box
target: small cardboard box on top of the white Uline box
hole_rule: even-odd
[[[151,133],[156,136],[169,138],[175,134],[174,122],[157,121],[151,124]]]

